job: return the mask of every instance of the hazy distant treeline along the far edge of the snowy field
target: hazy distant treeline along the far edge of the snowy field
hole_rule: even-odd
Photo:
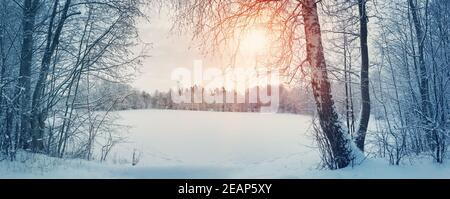
[[[192,86],[190,88],[179,89],[175,92],[168,91],[154,91],[152,94],[146,91],[139,91],[125,84],[105,83],[102,90],[114,91],[114,93],[121,96],[115,99],[107,100],[109,103],[103,103],[97,110],[133,110],[133,109],[170,109],[170,110],[193,110],[193,111],[218,111],[218,112],[260,112],[261,107],[269,107],[270,103],[263,103],[259,100],[250,100],[250,93],[256,94],[262,90],[270,94],[270,89],[254,87],[247,89],[245,93],[238,92],[234,89],[216,88],[205,89],[201,86]],[[270,86],[268,86],[270,88]],[[314,113],[314,102],[310,94],[300,87],[290,88],[285,85],[279,86],[278,111],[279,113],[294,113],[294,114],[312,114]],[[253,91],[252,91],[253,90]],[[259,91],[259,92],[258,92]],[[191,100],[187,102],[175,103],[172,95],[181,93],[189,93],[187,96]],[[218,96],[225,98],[227,95],[233,95],[233,101],[223,103],[207,103],[202,100],[206,92],[209,96]],[[195,99],[195,98],[200,98]],[[195,103],[197,102],[197,103]],[[198,103],[200,102],[200,103]]]

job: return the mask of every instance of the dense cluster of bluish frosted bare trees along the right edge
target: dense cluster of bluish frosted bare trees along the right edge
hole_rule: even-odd
[[[380,130],[392,164],[403,157],[430,155],[442,163],[448,149],[448,38],[445,23],[448,3],[417,0],[390,1],[378,23],[381,43],[379,88],[385,116]],[[408,19],[408,20],[403,20]],[[447,22],[444,22],[447,21]],[[440,43],[440,44],[439,44]],[[442,70],[446,68],[445,70]],[[377,104],[378,105],[378,104]]]

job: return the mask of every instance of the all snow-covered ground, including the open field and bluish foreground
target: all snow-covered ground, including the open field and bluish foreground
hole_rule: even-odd
[[[389,166],[368,158],[339,171],[318,169],[311,117],[166,110],[121,111],[126,143],[107,163],[21,154],[0,162],[0,178],[450,178],[431,161]],[[131,165],[133,153],[139,157]]]

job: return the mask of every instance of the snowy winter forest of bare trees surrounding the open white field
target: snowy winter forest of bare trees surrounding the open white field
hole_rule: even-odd
[[[270,50],[258,62],[285,80],[278,113],[313,115],[324,167],[359,164],[368,151],[392,165],[450,157],[450,1],[8,0],[0,2],[0,160],[18,152],[104,160],[120,141],[119,110],[258,112],[260,103],[176,104],[173,90],[129,85],[158,51],[140,40],[138,21],[159,9],[171,13],[173,31],[230,63],[236,40],[266,31]]]

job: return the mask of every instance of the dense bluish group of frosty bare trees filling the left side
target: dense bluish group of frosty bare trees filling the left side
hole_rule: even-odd
[[[14,159],[17,150],[27,150],[91,159],[96,135],[108,131],[111,141],[117,141],[116,131],[102,128],[112,126],[114,120],[108,115],[99,122],[101,117],[94,117],[91,109],[104,96],[86,100],[90,93],[86,87],[103,80],[131,79],[144,57],[130,48],[137,45],[136,19],[144,16],[141,8],[147,4],[142,0],[2,1],[2,154]],[[12,23],[17,21],[14,17],[20,17],[21,27]],[[9,67],[16,64],[17,71]]]

